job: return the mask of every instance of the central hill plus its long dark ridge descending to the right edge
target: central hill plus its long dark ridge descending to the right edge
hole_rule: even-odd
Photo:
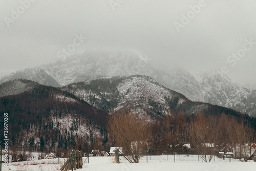
[[[146,114],[150,119],[161,119],[168,110],[176,113],[181,110],[186,116],[225,113],[249,119],[251,123],[255,121],[255,118],[253,120],[248,115],[222,106],[190,101],[184,95],[163,87],[148,76],[132,75],[86,80],[69,84],[62,90],[71,92],[89,104],[110,113],[120,108],[130,108],[138,114]],[[254,126],[256,128],[256,124]]]

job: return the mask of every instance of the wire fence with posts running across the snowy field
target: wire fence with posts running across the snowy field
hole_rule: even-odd
[[[18,171],[51,171],[51,170],[75,170],[78,168],[82,168],[83,163],[89,164],[89,153],[87,153],[87,157],[82,158],[82,152],[80,151],[70,151],[69,158],[55,158],[55,159],[42,159],[42,160],[34,160],[34,161],[22,161],[22,162],[10,162],[8,165],[2,163],[2,167],[0,171],[9,171],[9,170],[18,170]],[[120,151],[119,148],[115,151],[114,157],[103,157],[113,162],[113,163],[129,163],[126,160],[127,156],[124,156]],[[207,158],[209,155],[207,156]],[[93,164],[100,163],[103,159],[102,157],[90,157]],[[111,160],[113,158],[113,160]],[[238,159],[233,158],[223,158],[217,155],[212,155],[211,161],[225,161],[225,162],[235,162]],[[168,153],[161,153],[156,155],[155,153],[151,153],[150,151],[143,151],[141,154],[141,158],[139,163],[180,163],[180,162],[198,162],[204,163],[202,155],[198,154],[183,154],[177,152],[168,152]]]

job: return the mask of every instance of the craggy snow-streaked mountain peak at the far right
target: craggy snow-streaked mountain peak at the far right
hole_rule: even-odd
[[[256,91],[234,83],[227,76],[204,74],[200,83],[204,91],[204,102],[218,104],[242,113],[256,116]]]

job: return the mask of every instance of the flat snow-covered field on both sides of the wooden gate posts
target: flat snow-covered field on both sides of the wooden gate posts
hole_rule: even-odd
[[[83,158],[83,161],[86,158]],[[41,164],[33,165],[23,165],[26,162],[21,163],[19,165],[10,165],[8,168],[4,167],[3,170],[59,170],[60,164],[57,163],[56,159],[52,160],[39,160]],[[51,162],[52,164],[50,164]],[[49,163],[49,164],[47,164]],[[10,163],[14,164],[14,163]],[[18,163],[15,163],[18,164]],[[32,164],[32,163],[31,163]],[[2,166],[3,168],[3,166]],[[120,157],[120,164],[115,163],[114,157],[90,157],[89,163],[86,161],[83,163],[82,169],[77,169],[81,171],[97,171],[97,170],[104,170],[104,171],[156,171],[156,170],[203,170],[203,171],[210,171],[210,170],[225,170],[225,171],[233,171],[233,170],[246,170],[246,171],[254,171],[256,169],[256,162],[240,162],[236,159],[231,159],[228,161],[226,158],[225,160],[219,158],[212,158],[210,163],[205,163],[201,158],[197,155],[181,155],[174,156],[173,155],[163,155],[163,156],[148,156],[147,163],[146,157],[143,157],[139,163],[129,163],[123,157]]]

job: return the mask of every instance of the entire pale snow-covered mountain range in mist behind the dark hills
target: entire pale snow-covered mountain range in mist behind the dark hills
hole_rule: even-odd
[[[87,51],[58,59],[48,65],[2,76],[0,83],[23,78],[46,86],[66,87],[84,80],[89,82],[105,77],[145,75],[192,101],[222,105],[256,116],[255,89],[245,88],[229,77],[215,73],[194,76],[184,69],[157,70],[149,64],[149,60],[146,56],[134,52]]]

